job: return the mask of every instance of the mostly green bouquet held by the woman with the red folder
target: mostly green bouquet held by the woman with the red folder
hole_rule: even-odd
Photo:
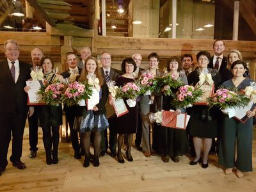
[[[184,83],[177,76],[173,76],[171,74],[167,74],[166,76],[163,76],[163,77],[154,78],[154,81],[153,81],[154,91],[160,92],[161,88],[163,88],[163,86],[165,85],[170,86],[170,89],[166,90],[166,92],[164,92],[164,95],[170,96],[172,95],[171,88],[174,88],[174,89],[179,88],[180,86],[183,86]]]

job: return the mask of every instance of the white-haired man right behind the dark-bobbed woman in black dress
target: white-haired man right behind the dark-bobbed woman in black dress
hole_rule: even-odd
[[[135,61],[136,63],[136,70],[132,73],[132,75],[134,77],[138,77],[140,76],[141,72],[144,70],[144,68],[141,68],[140,65],[141,65],[141,61],[142,61],[142,56],[141,54],[139,53],[134,53],[132,55],[132,60]],[[140,111],[140,109],[139,109]],[[138,113],[138,127],[137,127],[137,132],[136,132],[136,139],[135,139],[135,147],[138,149],[138,150],[142,150],[142,147],[140,146],[141,145],[141,138],[142,138],[142,133],[141,133],[141,116],[140,116],[140,113]]]

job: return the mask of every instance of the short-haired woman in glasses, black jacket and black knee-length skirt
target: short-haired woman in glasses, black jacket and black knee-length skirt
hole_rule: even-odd
[[[198,62],[198,67],[195,68],[188,76],[188,83],[191,85],[196,85],[200,81],[199,76],[202,74],[206,76],[211,74],[212,81],[215,88],[218,87],[221,83],[221,76],[218,70],[208,68],[210,60],[210,53],[207,51],[200,51],[196,54],[196,60]],[[209,81],[209,80],[208,80]],[[208,84],[208,81],[204,81]],[[210,79],[211,81],[211,79]],[[196,105],[192,108],[188,108],[188,113],[191,115],[188,132],[189,136],[193,137],[193,145],[195,147],[196,157],[191,161],[190,165],[195,165],[202,160],[202,168],[208,167],[208,154],[212,145],[212,138],[216,138],[218,129],[217,129],[217,120],[218,120],[218,111],[212,108],[211,110],[206,105]],[[201,146],[203,144],[203,156],[201,159]]]

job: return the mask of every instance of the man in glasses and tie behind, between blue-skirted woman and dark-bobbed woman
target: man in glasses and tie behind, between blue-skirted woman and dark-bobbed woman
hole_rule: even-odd
[[[102,77],[104,77],[105,81],[116,80],[116,77],[120,76],[122,72],[120,70],[116,70],[111,67],[111,55],[109,52],[102,52],[100,54],[100,62],[102,64],[102,68],[100,68]],[[106,115],[108,117],[109,122],[109,149],[111,152],[111,156],[116,156],[116,142],[117,142],[117,133],[115,131],[115,110],[113,106],[111,106],[107,100],[106,102]],[[108,149],[108,134],[107,131],[102,131],[102,141],[100,145],[100,154],[99,156],[104,156]]]

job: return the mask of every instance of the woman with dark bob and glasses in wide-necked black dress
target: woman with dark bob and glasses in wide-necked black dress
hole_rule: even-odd
[[[117,77],[116,86],[124,86],[126,83],[134,82],[134,76],[132,72],[136,70],[136,63],[132,58],[126,58],[122,62],[122,72],[124,75]],[[124,143],[124,135],[127,134],[127,150],[125,152],[128,161],[133,161],[131,156],[131,146],[133,134],[137,131],[138,124],[138,104],[130,108],[124,99],[125,105],[129,111],[125,115],[116,118],[116,131],[118,133],[118,151],[117,158],[119,163],[124,163],[124,158],[122,156],[122,145]]]

